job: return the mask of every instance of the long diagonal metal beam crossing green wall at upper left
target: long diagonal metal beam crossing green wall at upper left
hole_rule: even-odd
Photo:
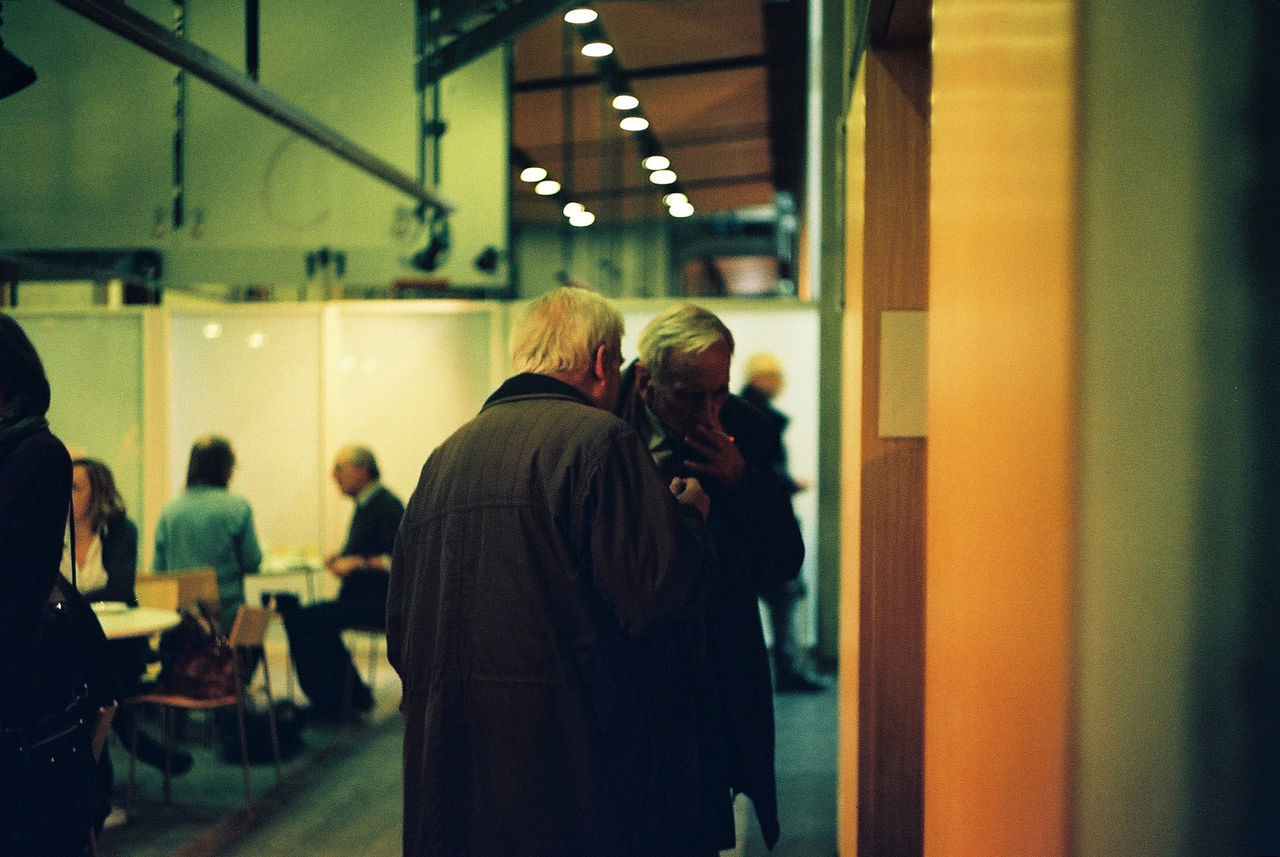
[[[119,0],[56,0],[74,13],[123,36],[138,47],[178,65],[252,107],[268,119],[289,128],[338,157],[362,169],[392,187],[399,188],[420,202],[449,212],[452,202],[422,185],[394,165],[361,148],[333,128],[264,90],[221,59],[183,38],[178,38],[151,18],[134,12]]]

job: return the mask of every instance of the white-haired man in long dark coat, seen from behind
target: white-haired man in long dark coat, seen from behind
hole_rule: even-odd
[[[431,453],[410,498],[387,609],[406,857],[694,853],[650,847],[699,780],[671,746],[682,688],[654,650],[672,640],[652,634],[714,572],[708,500],[659,476],[609,412],[621,338],[621,315],[585,289],[535,301],[520,373]]]

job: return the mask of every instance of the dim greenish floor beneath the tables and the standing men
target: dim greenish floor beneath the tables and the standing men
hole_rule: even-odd
[[[356,642],[364,651],[364,641]],[[273,688],[284,695],[283,634],[268,640]],[[366,660],[357,657],[364,672]],[[105,830],[101,857],[399,857],[401,729],[398,679],[383,661],[378,707],[357,725],[307,727],[307,748],[284,767],[275,784],[271,765],[252,767],[255,819],[243,806],[238,764],[195,747],[196,765],[174,780],[173,799],[161,799],[157,771],[138,766],[129,820]],[[764,849],[754,819],[746,826],[744,857],[835,857],[836,854],[836,692],[782,695],[778,719],[778,802],[782,840]],[[111,738],[119,803],[128,755]]]

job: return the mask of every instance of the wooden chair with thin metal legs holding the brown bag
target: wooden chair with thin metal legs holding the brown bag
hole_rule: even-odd
[[[146,693],[140,693],[132,696],[124,701],[124,705],[159,705],[161,709],[161,741],[165,746],[165,765],[164,765],[164,799],[165,803],[169,802],[172,794],[172,735],[170,725],[170,711],[212,711],[218,709],[236,709],[236,716],[239,725],[239,739],[241,739],[241,767],[244,771],[244,807],[250,817],[253,816],[253,802],[252,792],[250,788],[250,773],[248,773],[248,735],[244,730],[244,705],[248,689],[248,682],[251,675],[244,674],[243,664],[246,663],[246,652],[262,649],[262,641],[266,637],[266,627],[270,622],[273,614],[262,608],[242,606],[236,614],[236,624],[232,625],[230,642],[234,657],[232,659],[232,665],[236,674],[236,692],[228,696],[219,696],[210,700],[196,698],[191,696],[183,696],[180,693],[166,693],[164,691],[150,691]],[[275,761],[275,782],[280,782],[280,742],[275,730],[275,701],[271,698],[271,675],[268,669],[268,663],[265,655],[257,660],[262,664],[262,678],[266,687],[266,705],[268,705],[268,721],[271,728],[271,756]],[[129,789],[125,798],[124,810],[131,812],[133,808],[133,771],[137,764],[137,742],[138,742],[138,725],[141,718],[136,718],[133,721],[133,735],[129,744]]]

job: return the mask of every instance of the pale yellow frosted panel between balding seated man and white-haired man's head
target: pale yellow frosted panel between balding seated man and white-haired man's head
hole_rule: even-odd
[[[383,482],[407,501],[426,457],[493,391],[490,336],[500,307],[335,304],[330,312],[325,455],[365,444]],[[346,533],[351,504],[337,490],[329,496],[328,528]]]

